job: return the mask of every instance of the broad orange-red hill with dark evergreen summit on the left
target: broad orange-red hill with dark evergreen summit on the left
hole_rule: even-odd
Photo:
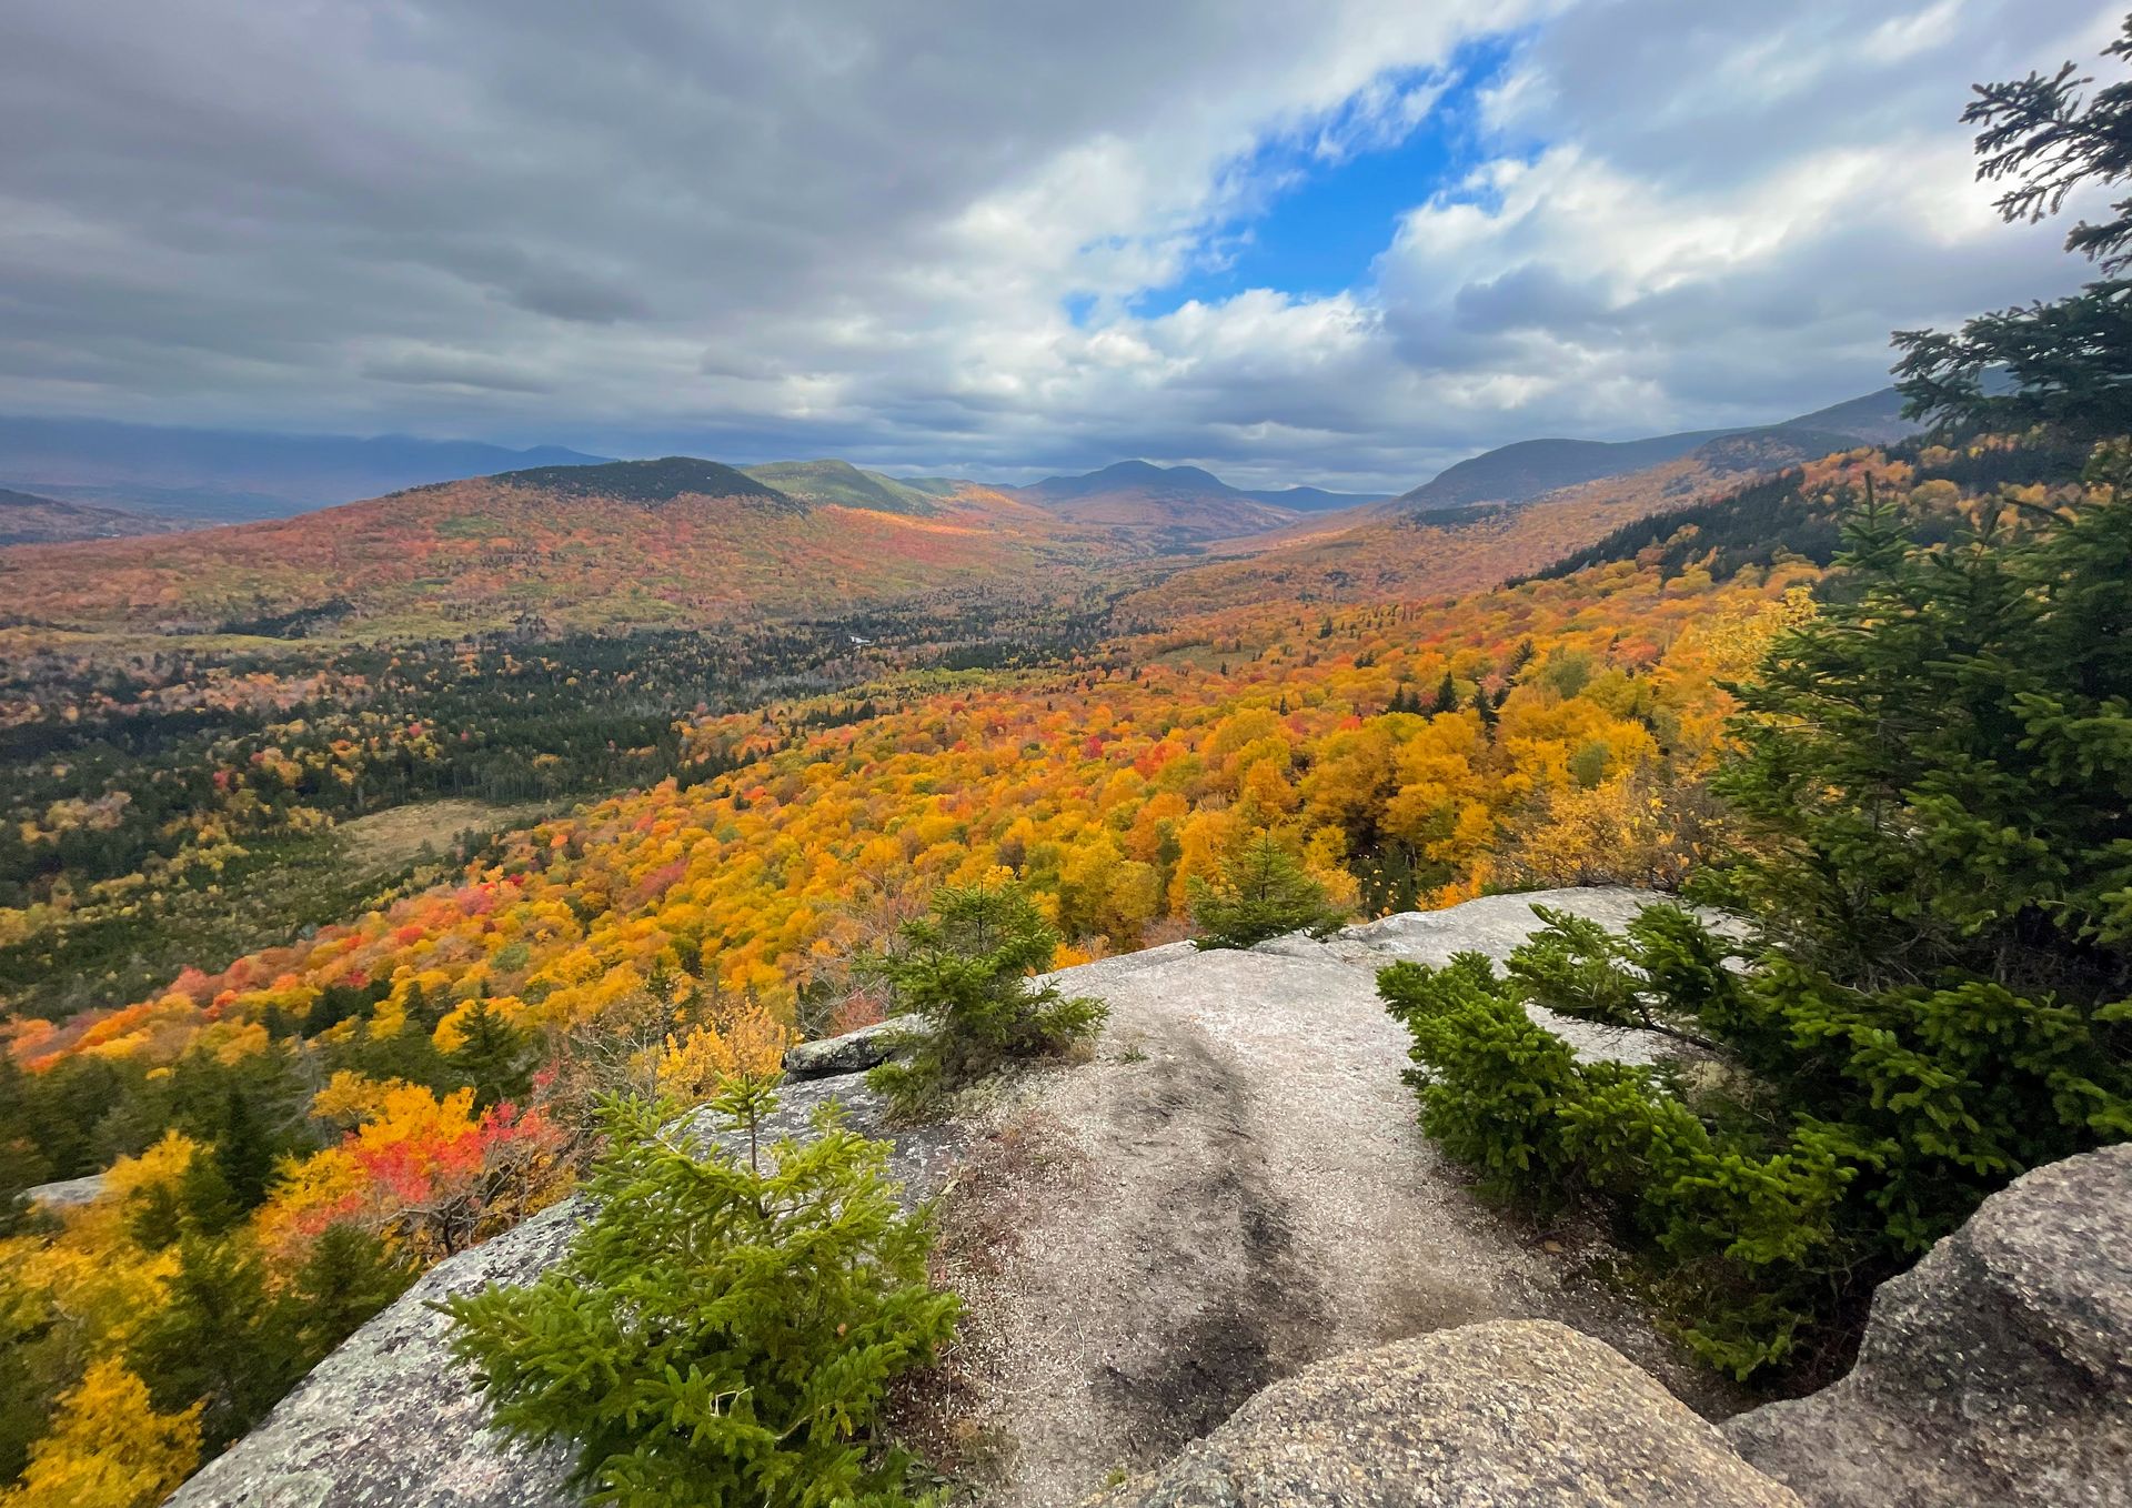
[[[925,516],[793,497],[691,456],[527,467],[158,540],[0,550],[0,625],[269,638],[682,627],[1102,559],[987,488]]]

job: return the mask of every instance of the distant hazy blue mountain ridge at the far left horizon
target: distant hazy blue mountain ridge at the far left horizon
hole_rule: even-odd
[[[603,459],[559,446],[510,450],[471,439],[271,435],[0,416],[0,484],[72,503],[217,523],[284,518],[422,482]]]

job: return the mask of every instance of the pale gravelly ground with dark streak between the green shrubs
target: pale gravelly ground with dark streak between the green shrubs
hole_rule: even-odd
[[[1622,907],[1541,896],[1580,898]],[[1535,926],[1522,900],[1477,904],[1475,947]],[[921,1433],[983,1502],[1079,1504],[1318,1359],[1473,1320],[1558,1318],[1693,1376],[1580,1278],[1582,1241],[1488,1209],[1420,1135],[1375,994],[1405,943],[1173,945],[1060,977],[1111,1005],[1096,1060],[1013,1086],[942,1203],[968,1312]]]

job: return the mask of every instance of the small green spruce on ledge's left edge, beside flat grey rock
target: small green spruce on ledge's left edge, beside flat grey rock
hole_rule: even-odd
[[[906,921],[874,960],[900,1009],[923,1020],[900,1060],[868,1073],[904,1116],[925,1111],[1017,1058],[1060,1052],[1102,1030],[1109,1007],[1032,985],[1060,934],[1015,885],[944,885],[932,911]]]

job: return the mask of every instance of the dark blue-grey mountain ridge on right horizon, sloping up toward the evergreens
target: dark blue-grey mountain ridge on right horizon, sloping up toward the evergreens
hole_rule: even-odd
[[[1789,465],[1846,446],[1889,444],[1912,433],[1917,433],[1917,424],[1902,418],[1902,395],[1895,388],[1880,388],[1778,424],[1697,429],[1616,442],[1520,439],[1448,467],[1435,480],[1392,499],[1388,512],[1414,514],[1469,503],[1524,503],[1563,486],[1665,465],[1701,452],[1706,446],[1721,446],[1714,454],[1723,459],[1723,444],[1735,439],[1746,439],[1748,446],[1735,448],[1742,465],[1733,469],[1753,469],[1746,465],[1748,456],[1759,456],[1755,465],[1772,461]]]

